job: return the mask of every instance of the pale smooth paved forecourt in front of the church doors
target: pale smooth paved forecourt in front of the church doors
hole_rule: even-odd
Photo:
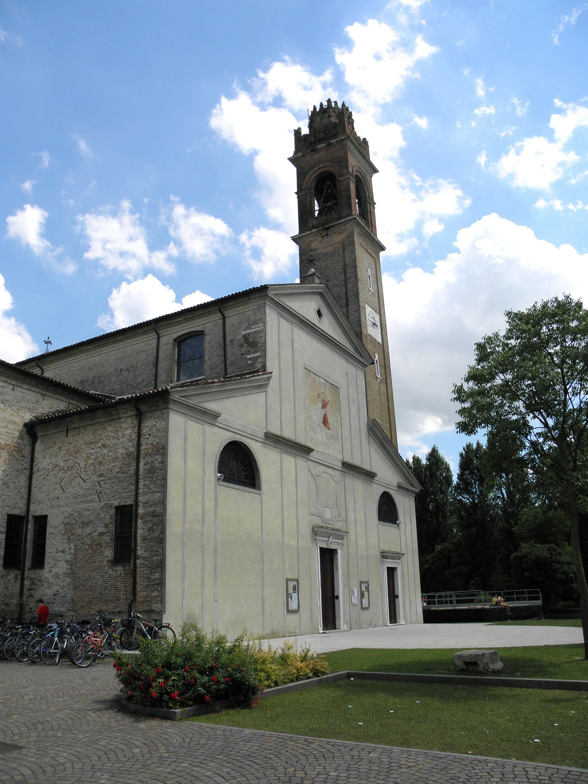
[[[285,641],[314,653],[348,648],[519,648],[527,645],[582,643],[582,630],[575,626],[493,626],[489,623],[413,623],[379,626],[377,629],[306,634],[269,640],[273,648]]]

